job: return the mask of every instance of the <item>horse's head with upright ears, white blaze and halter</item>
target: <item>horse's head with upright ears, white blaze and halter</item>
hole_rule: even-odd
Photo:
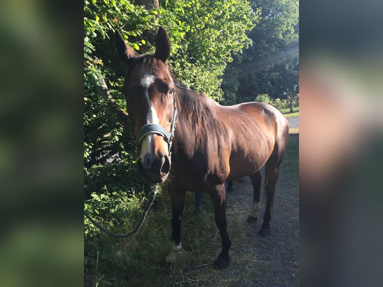
[[[127,65],[122,92],[138,146],[137,169],[149,184],[166,180],[177,116],[174,83],[166,64],[170,40],[159,27],[154,54],[136,54],[119,31],[114,32],[117,54]]]

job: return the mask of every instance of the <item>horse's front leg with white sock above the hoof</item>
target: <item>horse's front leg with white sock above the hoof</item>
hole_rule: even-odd
[[[171,216],[171,248],[166,256],[166,262],[174,262],[179,250],[181,249],[181,221],[183,216],[183,206],[185,202],[185,191],[176,191],[175,188],[168,186],[172,204]]]

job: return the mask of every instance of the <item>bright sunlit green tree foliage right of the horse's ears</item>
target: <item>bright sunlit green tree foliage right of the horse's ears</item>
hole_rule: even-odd
[[[195,91],[221,100],[226,63],[251,43],[246,33],[257,10],[245,0],[168,0],[164,8],[160,23],[172,42],[172,72]]]

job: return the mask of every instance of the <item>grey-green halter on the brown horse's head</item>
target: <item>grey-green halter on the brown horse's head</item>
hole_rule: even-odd
[[[175,123],[177,121],[177,114],[178,114],[177,105],[175,103],[175,89],[173,91],[173,100],[174,100],[174,114],[173,114],[173,121],[171,122],[171,126],[170,126],[170,133],[166,129],[164,129],[162,126],[160,126],[159,124],[147,123],[144,126],[142,126],[141,129],[138,132],[137,139],[136,139],[137,146],[139,146],[139,143],[141,142],[141,139],[145,135],[147,135],[149,133],[159,134],[167,142],[167,144],[169,146],[169,148],[168,148],[169,157],[171,157],[170,149],[171,149],[171,145],[172,145],[172,142],[173,142],[174,131],[175,131]]]

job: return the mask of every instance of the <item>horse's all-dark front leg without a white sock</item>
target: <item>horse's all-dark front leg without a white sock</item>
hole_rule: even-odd
[[[215,186],[215,190],[212,190],[212,192],[210,192],[210,199],[214,207],[215,224],[219,229],[219,233],[222,239],[222,250],[219,253],[218,258],[214,262],[214,267],[218,269],[224,269],[230,263],[228,249],[231,246],[231,241],[228,237],[226,230],[226,194],[224,184],[219,184]]]

